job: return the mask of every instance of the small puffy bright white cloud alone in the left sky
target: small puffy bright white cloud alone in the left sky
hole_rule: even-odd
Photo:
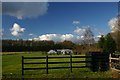
[[[21,35],[20,33],[25,31],[25,28],[21,28],[20,25],[18,25],[17,23],[14,23],[13,27],[12,27],[12,29],[10,29],[10,31],[13,36],[18,37]]]

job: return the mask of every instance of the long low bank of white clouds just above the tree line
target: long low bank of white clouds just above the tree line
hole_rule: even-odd
[[[87,32],[86,32],[86,30],[87,30]],[[90,28],[88,29],[88,28],[77,27],[74,30],[74,32],[77,33],[77,35],[76,34],[44,34],[39,37],[33,38],[33,40],[36,40],[36,41],[53,40],[55,42],[63,42],[64,40],[69,40],[69,41],[78,43],[85,39],[85,37],[84,37],[85,33],[88,33],[87,35],[90,36],[91,30],[90,31],[89,30],[90,30]],[[91,34],[91,36],[92,36],[92,34]]]

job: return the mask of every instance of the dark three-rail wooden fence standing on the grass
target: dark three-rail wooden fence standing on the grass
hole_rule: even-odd
[[[48,62],[49,59],[53,59],[53,58],[70,58],[70,61],[68,62]],[[24,57],[22,56],[22,75],[24,75],[24,70],[39,70],[39,69],[46,69],[46,73],[48,74],[48,69],[67,69],[69,68],[70,71],[72,72],[72,68],[88,68],[90,66],[72,66],[73,63],[89,63],[91,61],[73,61],[73,58],[91,58],[91,56],[56,56],[56,57],[52,57],[52,56],[45,56],[45,57]],[[25,59],[46,59],[46,62],[24,62]],[[48,64],[65,64],[65,63],[69,63],[70,66],[67,67],[49,67]],[[27,64],[46,64],[46,67],[43,68],[24,68],[24,65]]]

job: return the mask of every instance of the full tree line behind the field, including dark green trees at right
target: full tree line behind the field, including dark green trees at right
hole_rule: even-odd
[[[97,43],[88,47],[86,44],[73,43],[72,41],[30,41],[30,40],[2,40],[2,52],[23,52],[23,51],[49,51],[51,49],[71,49],[74,53],[83,53],[85,50],[102,50],[105,53],[114,53],[117,49],[115,40],[108,33],[102,36]]]

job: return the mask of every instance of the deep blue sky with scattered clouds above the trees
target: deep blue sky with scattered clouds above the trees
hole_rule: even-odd
[[[111,32],[117,14],[117,2],[3,2],[0,32],[3,39],[76,42],[87,27],[94,37]]]

